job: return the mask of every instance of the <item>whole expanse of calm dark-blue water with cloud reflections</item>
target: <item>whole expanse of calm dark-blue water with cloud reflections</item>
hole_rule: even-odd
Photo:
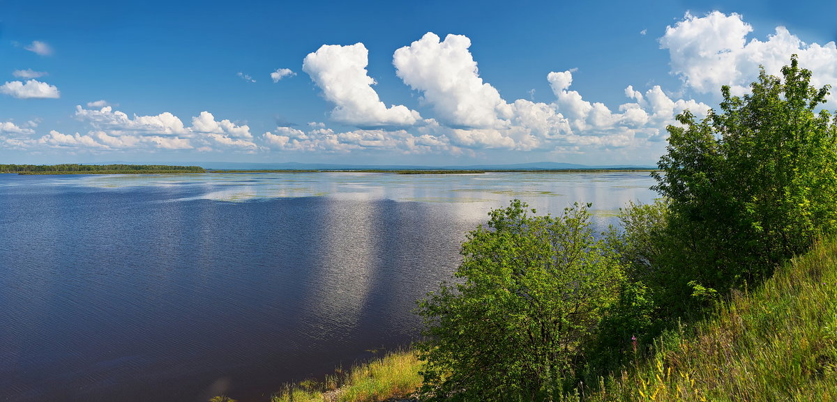
[[[0,400],[268,400],[409,343],[512,198],[598,226],[647,173],[0,175]]]

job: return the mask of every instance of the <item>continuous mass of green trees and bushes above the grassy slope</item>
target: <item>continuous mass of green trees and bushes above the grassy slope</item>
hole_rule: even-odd
[[[663,198],[627,206],[603,239],[588,206],[491,211],[462,246],[458,281],[419,302],[424,392],[561,399],[584,389],[574,380],[635,362],[673,318],[837,234],[837,118],[820,109],[829,87],[810,79],[794,55],[781,78],[762,69],[750,94],[723,87],[705,119],[679,114],[652,174]]]

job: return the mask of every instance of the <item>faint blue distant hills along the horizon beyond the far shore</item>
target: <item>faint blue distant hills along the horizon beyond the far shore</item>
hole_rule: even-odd
[[[104,162],[103,162],[104,163]],[[109,162],[110,163],[110,162]],[[114,162],[126,163],[126,162]],[[131,162],[146,165],[146,162]],[[159,165],[160,162],[147,164]],[[655,169],[648,165],[578,165],[563,162],[529,162],[506,165],[349,165],[330,163],[168,162],[167,165],[198,165],[213,170],[562,170],[562,169]]]

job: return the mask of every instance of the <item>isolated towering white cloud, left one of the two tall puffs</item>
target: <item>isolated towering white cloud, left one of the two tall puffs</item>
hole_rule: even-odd
[[[358,127],[409,126],[421,119],[419,112],[401,104],[387,107],[367,74],[368,51],[363,43],[348,46],[322,45],[309,53],[302,70],[335,104],[331,118]]]

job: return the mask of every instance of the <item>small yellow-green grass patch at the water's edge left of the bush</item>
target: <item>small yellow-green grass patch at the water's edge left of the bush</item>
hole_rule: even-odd
[[[325,380],[288,384],[270,402],[377,402],[413,394],[421,386],[419,359],[411,350],[391,352]]]

